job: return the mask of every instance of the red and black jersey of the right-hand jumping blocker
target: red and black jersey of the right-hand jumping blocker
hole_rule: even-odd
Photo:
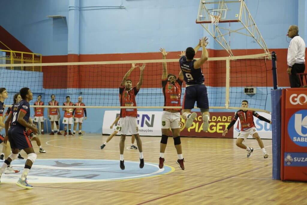
[[[181,106],[182,82],[177,78],[175,84],[171,84],[167,78],[162,80],[162,91],[164,95],[164,106]],[[163,109],[165,110],[165,109]],[[172,109],[180,111],[180,108]]]

